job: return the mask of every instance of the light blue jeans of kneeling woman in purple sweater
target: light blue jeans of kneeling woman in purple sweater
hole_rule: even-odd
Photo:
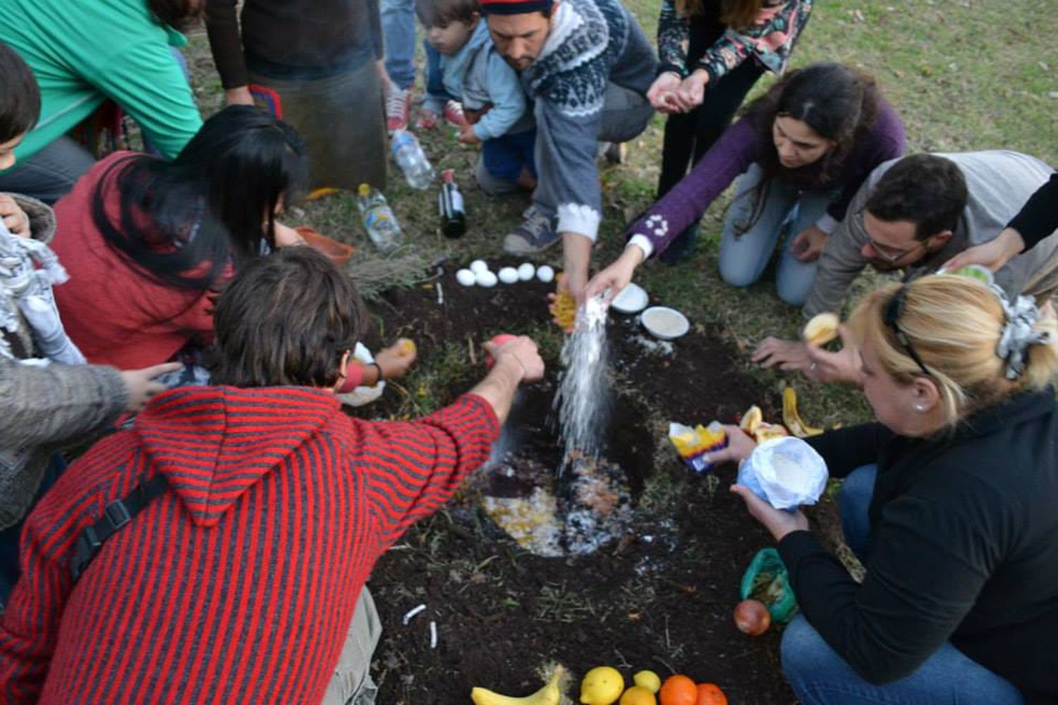
[[[816,279],[817,262],[802,262],[789,251],[789,242],[799,233],[814,225],[829,205],[829,191],[799,191],[772,180],[767,199],[755,214],[758,189],[762,170],[753,164],[735,182],[735,198],[728,208],[720,237],[720,278],[732,286],[749,286],[764,274],[776,244],[785,234],[779,268],[776,273],[776,291],[779,298],[790,305],[800,307],[808,298],[811,282]],[[752,226],[743,233],[745,226]]]

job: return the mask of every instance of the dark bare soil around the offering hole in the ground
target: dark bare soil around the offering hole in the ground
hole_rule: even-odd
[[[547,324],[553,284],[463,289],[451,272],[440,282],[442,305],[436,287],[417,286],[390,292],[375,307],[383,337],[415,338],[423,365],[445,342]],[[734,468],[691,475],[660,423],[729,422],[754,403],[771,418],[774,400],[740,373],[732,352],[708,328],[673,341],[671,353],[647,338],[634,317],[610,323],[616,398],[605,453],[628,472],[632,530],[589,556],[541,558],[492,523],[474,489],[464,491],[412,528],[373,572],[369,585],[385,630],[375,664],[380,703],[467,703],[476,685],[526,694],[540,686],[534,671],[548,660],[573,672],[574,701],[579,678],[606,664],[630,682],[644,668],[662,679],[681,672],[711,681],[731,703],[792,702],[780,673],[779,633],[751,638],[731,617],[743,571],[770,537],[727,490]],[[557,466],[555,360],[547,361],[548,378],[523,392],[509,425],[519,452]],[[472,384],[455,385],[461,388],[451,396]],[[398,402],[387,390],[370,413],[385,415]],[[427,609],[402,625],[405,611],[420,602]]]

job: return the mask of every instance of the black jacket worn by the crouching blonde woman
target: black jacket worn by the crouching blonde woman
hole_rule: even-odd
[[[867,424],[810,440],[833,477],[878,464],[857,585],[808,532],[779,545],[798,604],[863,679],[884,683],[950,641],[1035,695],[1058,695],[1058,413],[1018,395],[953,433]]]

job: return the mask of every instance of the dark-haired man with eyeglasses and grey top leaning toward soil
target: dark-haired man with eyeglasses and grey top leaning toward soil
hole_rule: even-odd
[[[802,313],[810,318],[840,312],[849,287],[869,264],[881,273],[899,272],[908,281],[990,242],[1053,172],[1033,156],[1000,150],[913,154],[881,164],[829,237]],[[1050,297],[1058,290],[1058,233],[1007,261],[995,276],[1008,296]],[[847,352],[769,337],[752,359],[816,381],[855,383],[855,355]]]

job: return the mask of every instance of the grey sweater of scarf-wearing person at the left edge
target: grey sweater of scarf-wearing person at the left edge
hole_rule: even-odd
[[[33,237],[50,241],[55,231],[52,209],[34,199],[8,196],[30,216]],[[0,296],[6,296],[2,287]],[[20,358],[34,356],[24,326],[14,334],[0,329],[0,335]],[[29,512],[52,452],[89,440],[127,405],[128,391],[113,368],[39,367],[0,355],[0,530]]]

